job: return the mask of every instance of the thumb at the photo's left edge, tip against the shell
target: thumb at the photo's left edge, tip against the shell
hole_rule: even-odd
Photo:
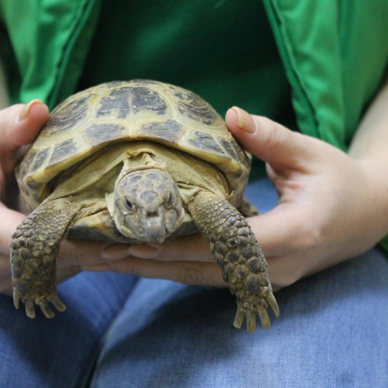
[[[0,110],[0,147],[15,149],[33,141],[48,120],[48,107],[34,99]]]

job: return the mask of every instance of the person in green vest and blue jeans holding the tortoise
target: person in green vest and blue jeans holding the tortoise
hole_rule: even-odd
[[[15,3],[0,2],[15,102],[0,111],[0,385],[387,386],[387,2]],[[264,210],[249,223],[279,290],[268,331],[232,327],[233,297],[199,235],[68,239],[58,260],[66,312],[30,320],[12,306],[9,242],[24,215],[10,208],[11,182],[48,119],[41,100],[52,108],[123,77],[194,90],[265,162],[273,186],[256,180],[248,194]]]

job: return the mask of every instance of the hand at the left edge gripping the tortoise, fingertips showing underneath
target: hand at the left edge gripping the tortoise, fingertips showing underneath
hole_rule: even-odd
[[[48,108],[39,100],[28,104],[16,104],[0,110],[0,293],[12,295],[9,265],[9,244],[16,226],[25,214],[11,210],[7,205],[16,202],[14,168],[30,143],[47,122]],[[15,204],[15,203],[14,203]],[[57,281],[81,271],[82,264],[95,263],[100,258],[106,243],[86,241],[64,241],[58,259]]]

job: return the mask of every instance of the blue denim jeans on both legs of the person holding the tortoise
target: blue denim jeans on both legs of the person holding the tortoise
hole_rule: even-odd
[[[248,195],[276,203],[266,180]],[[0,296],[0,387],[388,387],[378,248],[277,292],[280,317],[254,334],[232,326],[227,290],[85,272],[59,292],[51,320]]]

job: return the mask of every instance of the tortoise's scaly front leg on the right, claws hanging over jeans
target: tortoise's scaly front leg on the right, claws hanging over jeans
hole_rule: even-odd
[[[254,332],[255,316],[259,315],[262,326],[268,328],[268,305],[276,316],[279,307],[267,262],[247,221],[226,199],[206,191],[196,194],[188,207],[198,230],[209,241],[225,282],[236,295],[234,326],[240,328],[246,316],[247,330]]]

